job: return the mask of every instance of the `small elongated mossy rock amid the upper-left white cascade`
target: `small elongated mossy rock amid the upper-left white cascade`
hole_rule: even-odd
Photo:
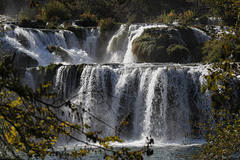
[[[60,47],[53,46],[53,45],[48,45],[47,50],[51,53],[54,53],[55,55],[59,56],[63,62],[74,62],[71,56],[68,55],[68,53],[63,50]]]

